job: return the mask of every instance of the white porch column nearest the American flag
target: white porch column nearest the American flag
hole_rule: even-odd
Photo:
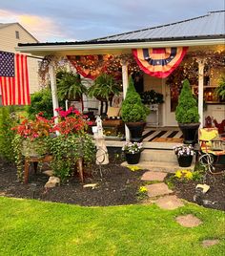
[[[55,109],[58,108],[56,75],[55,75],[55,71],[54,71],[54,65],[52,62],[49,65],[49,75],[50,75],[50,82],[51,82],[51,97],[52,97],[52,106],[53,106],[53,116],[58,117],[58,113],[57,113],[57,111],[55,111]],[[58,123],[58,118],[54,119],[54,123]]]

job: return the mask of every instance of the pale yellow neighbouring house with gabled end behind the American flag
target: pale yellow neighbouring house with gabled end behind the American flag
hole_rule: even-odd
[[[15,50],[18,43],[38,43],[38,40],[31,35],[19,23],[0,23],[0,51],[18,53]],[[28,58],[30,93],[39,89],[38,62],[36,58]],[[1,96],[1,92],[0,92]]]

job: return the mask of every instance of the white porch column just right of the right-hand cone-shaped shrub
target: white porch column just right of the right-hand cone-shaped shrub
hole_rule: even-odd
[[[197,59],[198,63],[198,114],[200,116],[200,128],[204,125],[204,116],[203,116],[203,87],[204,87],[204,60]]]

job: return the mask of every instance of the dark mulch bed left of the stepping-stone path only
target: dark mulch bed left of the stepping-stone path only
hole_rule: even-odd
[[[137,203],[136,192],[141,185],[144,171],[132,172],[120,165],[121,160],[111,160],[107,165],[93,165],[86,169],[85,183],[97,183],[97,187],[84,188],[78,175],[66,184],[45,189],[49,177],[31,168],[29,184],[16,179],[16,168],[0,160],[0,196],[37,199],[57,203],[74,203],[84,206],[106,206]]]

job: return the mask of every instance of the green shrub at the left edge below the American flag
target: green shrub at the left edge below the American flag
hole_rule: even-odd
[[[7,161],[13,161],[13,146],[14,132],[11,128],[15,125],[13,118],[12,107],[0,108],[0,156]]]

